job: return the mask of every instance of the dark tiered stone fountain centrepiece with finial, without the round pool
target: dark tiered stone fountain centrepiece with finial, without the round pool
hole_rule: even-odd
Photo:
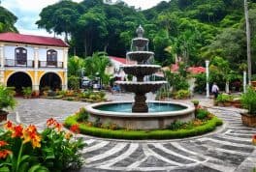
[[[132,112],[148,112],[145,94],[157,91],[166,81],[144,81],[144,76],[157,72],[161,66],[148,65],[154,53],[148,51],[149,41],[143,37],[144,28],[140,25],[136,32],[138,38],[132,40],[131,51],[128,52],[126,56],[130,60],[136,61],[137,65],[126,65],[122,68],[125,73],[136,76],[137,81],[116,81],[116,83],[119,84],[123,90],[135,93],[135,102],[133,103]]]

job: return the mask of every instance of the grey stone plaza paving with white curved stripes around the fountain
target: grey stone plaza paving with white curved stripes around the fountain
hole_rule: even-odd
[[[131,98],[122,94],[109,96],[111,100],[116,97],[121,100]],[[251,136],[256,129],[241,125],[239,109],[215,108],[211,106],[211,100],[198,100],[204,100],[202,103],[209,107],[208,110],[223,119],[223,127],[203,136],[179,140],[128,141],[79,135],[87,143],[82,150],[85,164],[80,172],[252,171],[256,150],[251,144]],[[18,101],[16,111],[22,123],[36,124],[40,128],[49,117],[62,121],[85,105],[64,100]]]

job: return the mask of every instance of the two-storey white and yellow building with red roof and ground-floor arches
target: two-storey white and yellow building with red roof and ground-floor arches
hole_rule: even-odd
[[[60,39],[0,34],[0,83],[16,88],[31,87],[39,94],[44,87],[67,89],[69,45]]]

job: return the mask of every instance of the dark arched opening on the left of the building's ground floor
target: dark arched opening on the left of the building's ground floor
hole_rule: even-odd
[[[22,87],[31,87],[32,80],[30,76],[25,72],[15,72],[7,80],[8,87],[15,87],[16,94],[22,94]]]

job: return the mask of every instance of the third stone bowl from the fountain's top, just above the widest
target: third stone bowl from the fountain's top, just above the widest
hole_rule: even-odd
[[[121,67],[127,74],[132,74],[137,77],[137,81],[144,81],[145,75],[151,75],[157,72],[161,66],[159,65],[125,65]]]

